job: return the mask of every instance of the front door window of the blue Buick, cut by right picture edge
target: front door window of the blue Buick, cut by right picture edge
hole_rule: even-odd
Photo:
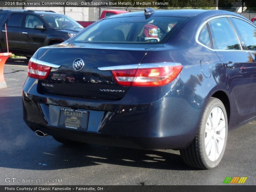
[[[232,18],[248,50],[256,50],[256,28],[244,20]]]

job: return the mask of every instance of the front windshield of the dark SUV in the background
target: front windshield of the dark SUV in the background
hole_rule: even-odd
[[[52,28],[68,29],[83,28],[82,25],[65,15],[43,15],[41,16]]]

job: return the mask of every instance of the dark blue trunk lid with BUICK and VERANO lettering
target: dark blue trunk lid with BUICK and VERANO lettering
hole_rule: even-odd
[[[129,87],[118,85],[111,71],[98,68],[139,64],[149,50],[161,45],[136,44],[59,44],[38,50],[37,60],[60,65],[52,68],[45,80],[39,80],[43,92],[53,94],[118,100],[124,97]],[[77,60],[78,59],[78,60]],[[77,71],[84,61],[84,67]]]

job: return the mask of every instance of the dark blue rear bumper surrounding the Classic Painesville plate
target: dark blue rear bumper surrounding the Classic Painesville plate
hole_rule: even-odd
[[[143,93],[135,97],[139,88],[132,87],[118,101],[40,94],[36,81],[28,78],[23,87],[23,118],[33,131],[86,143],[144,149],[184,148],[196,135],[203,100],[179,81],[147,98]],[[140,97],[151,102],[143,103]],[[87,130],[58,127],[61,107],[88,110]]]

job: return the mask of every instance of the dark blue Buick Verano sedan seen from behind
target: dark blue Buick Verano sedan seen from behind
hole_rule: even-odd
[[[216,10],[95,22],[30,59],[24,120],[64,144],[179,149],[186,164],[213,168],[228,130],[256,117],[255,27]]]

